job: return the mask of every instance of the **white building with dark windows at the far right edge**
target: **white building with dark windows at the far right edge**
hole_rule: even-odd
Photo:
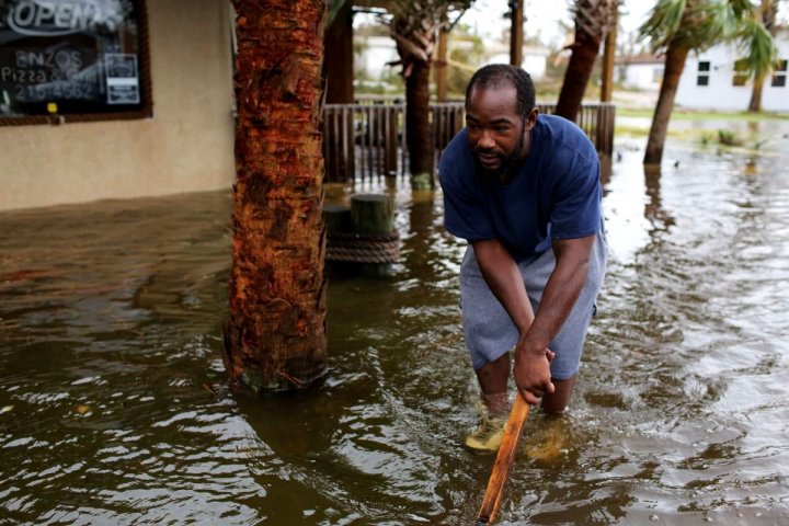
[[[768,112],[789,112],[789,33],[776,36],[778,62],[765,80],[762,108]],[[719,44],[705,52],[688,55],[679,79],[675,104],[697,110],[747,110],[753,81],[739,75],[737,59],[743,53],[735,44]]]

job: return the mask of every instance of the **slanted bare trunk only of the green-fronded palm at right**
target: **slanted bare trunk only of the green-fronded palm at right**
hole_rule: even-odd
[[[647,140],[647,151],[644,152],[644,164],[660,164],[663,159],[663,147],[665,145],[666,133],[668,132],[668,119],[674,110],[674,98],[679,85],[679,77],[685,69],[685,59],[689,49],[685,46],[677,45],[675,41],[668,43],[665,59],[665,71],[663,73],[663,82],[661,82],[660,95],[658,95],[658,105],[652,116],[652,127],[650,128],[649,139]]]

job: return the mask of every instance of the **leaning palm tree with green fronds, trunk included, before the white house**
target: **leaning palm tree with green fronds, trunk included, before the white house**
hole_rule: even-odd
[[[748,48],[748,68],[768,67],[773,49],[770,34],[756,21],[748,0],[659,0],[650,18],[640,27],[653,52],[665,52],[665,70],[655,106],[644,164],[660,164],[663,158],[668,119],[685,59],[691,49],[704,50],[719,42],[739,39]],[[774,53],[774,52],[773,52]]]

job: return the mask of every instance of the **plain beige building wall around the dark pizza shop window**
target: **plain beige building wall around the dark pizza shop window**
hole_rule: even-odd
[[[230,188],[228,0],[148,0],[153,117],[0,126],[0,210]]]

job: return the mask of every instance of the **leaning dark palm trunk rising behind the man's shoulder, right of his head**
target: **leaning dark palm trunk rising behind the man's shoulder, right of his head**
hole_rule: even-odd
[[[575,121],[601,43],[616,24],[618,0],[576,0],[575,42],[559,92],[556,114]]]

